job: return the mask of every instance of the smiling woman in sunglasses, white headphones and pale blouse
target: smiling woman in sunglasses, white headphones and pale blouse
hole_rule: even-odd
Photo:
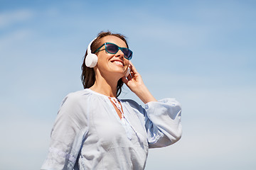
[[[94,60],[91,53],[97,55]],[[64,98],[41,169],[144,169],[149,148],[181,138],[179,103],[173,98],[156,101],[131,58],[120,34],[102,32],[88,45],[82,64],[85,89]],[[144,108],[117,99],[123,83]]]

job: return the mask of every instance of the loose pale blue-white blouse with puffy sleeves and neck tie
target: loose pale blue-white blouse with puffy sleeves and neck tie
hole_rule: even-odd
[[[119,101],[123,121],[108,96],[90,89],[68,94],[41,170],[144,169],[149,148],[181,138],[181,106],[174,98],[144,108],[132,100]]]

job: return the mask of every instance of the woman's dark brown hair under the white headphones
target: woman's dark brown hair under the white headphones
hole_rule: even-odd
[[[100,47],[100,45],[102,45],[101,39],[106,36],[109,36],[109,35],[114,35],[114,36],[120,38],[121,40],[123,40],[125,42],[125,44],[127,45],[127,48],[129,48],[128,44],[127,44],[127,40],[125,39],[126,37],[124,35],[117,34],[117,33],[111,33],[110,31],[107,31],[107,32],[102,31],[97,35],[97,38],[92,42],[92,45],[90,47],[91,51],[94,52],[95,50],[97,50],[97,48]],[[87,50],[85,52],[85,57],[84,57],[84,60],[82,62],[82,67],[81,67],[81,69],[82,69],[81,80],[82,80],[82,85],[83,85],[84,89],[90,88],[93,84],[95,84],[95,72],[94,72],[93,68],[87,67],[85,65],[86,56],[87,56]],[[124,83],[123,83],[122,79],[119,79],[119,81],[117,82],[117,97],[122,92],[123,84]]]

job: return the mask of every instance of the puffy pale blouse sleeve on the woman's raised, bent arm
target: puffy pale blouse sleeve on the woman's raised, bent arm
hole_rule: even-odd
[[[174,98],[146,103],[145,112],[150,148],[166,147],[181,138],[181,105]]]

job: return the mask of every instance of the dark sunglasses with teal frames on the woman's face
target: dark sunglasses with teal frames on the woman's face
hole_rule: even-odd
[[[100,50],[100,48],[103,47],[104,45],[105,45],[105,49],[102,49],[102,50],[106,50],[110,54],[116,54],[119,50],[121,50],[124,53],[124,58],[126,58],[127,60],[132,59],[132,50],[129,50],[126,47],[119,47],[111,42],[105,42],[103,45],[98,47],[97,50],[95,50],[95,52],[92,52],[92,53],[102,51]]]

